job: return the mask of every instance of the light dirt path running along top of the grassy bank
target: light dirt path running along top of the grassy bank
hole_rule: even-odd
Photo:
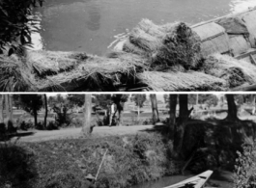
[[[136,126],[98,126],[94,128],[93,137],[116,136],[126,134],[137,134],[143,130],[152,129],[154,125]],[[19,142],[42,142],[57,139],[72,139],[81,136],[81,128],[65,128],[60,130],[35,130],[33,134],[19,137]],[[15,140],[17,137],[14,137]]]

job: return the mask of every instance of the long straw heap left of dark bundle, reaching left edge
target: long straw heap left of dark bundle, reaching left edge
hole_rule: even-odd
[[[110,58],[77,52],[30,53],[26,65],[2,57],[1,91],[115,91],[116,84],[132,80],[137,72],[147,69],[145,59],[125,52],[113,52]],[[33,56],[36,58],[31,59]]]

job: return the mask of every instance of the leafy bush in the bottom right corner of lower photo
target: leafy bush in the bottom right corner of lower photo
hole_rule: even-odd
[[[238,151],[234,183],[236,188],[254,188],[256,186],[256,141],[253,145],[243,145]]]

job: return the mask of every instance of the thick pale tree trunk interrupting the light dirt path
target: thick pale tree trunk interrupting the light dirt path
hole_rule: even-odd
[[[91,131],[91,113],[92,113],[92,94],[85,94],[84,96],[84,124],[82,133],[84,136],[90,136]]]

